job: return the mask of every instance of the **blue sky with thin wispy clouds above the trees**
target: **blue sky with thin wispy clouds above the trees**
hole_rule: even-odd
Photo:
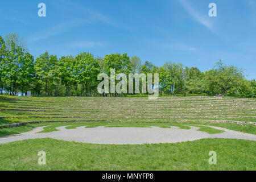
[[[46,4],[46,17],[38,4]],[[216,3],[217,17],[208,15]],[[2,1],[0,35],[16,32],[39,56],[127,53],[202,71],[222,60],[256,79],[256,0]]]

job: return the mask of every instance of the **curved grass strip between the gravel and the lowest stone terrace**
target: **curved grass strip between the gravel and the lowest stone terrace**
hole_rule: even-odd
[[[71,126],[68,126],[71,125]],[[68,126],[67,129],[74,129],[78,126],[87,126],[87,127],[97,127],[97,126],[117,126],[122,125],[125,127],[146,127],[146,126],[159,126],[159,127],[170,127],[177,126],[180,129],[190,129],[190,126],[194,125],[209,125],[209,126],[218,126],[230,130],[241,131],[244,133],[256,134],[256,126],[254,125],[237,125],[234,123],[209,123],[209,122],[163,122],[163,121],[154,121],[154,122],[142,122],[142,121],[131,121],[131,122],[43,122],[43,123],[29,123],[27,125],[22,125],[19,127],[5,127],[0,129],[0,137],[12,134],[19,134],[26,131],[32,130],[34,127],[38,126],[47,126],[44,127],[44,132],[57,131],[56,127],[58,126]],[[212,129],[206,126],[198,126],[200,131],[205,131],[209,134],[222,133],[220,130]]]

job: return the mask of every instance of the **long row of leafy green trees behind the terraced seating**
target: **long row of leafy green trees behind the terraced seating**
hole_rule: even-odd
[[[34,58],[26,43],[16,34],[0,36],[0,92],[11,96],[102,96],[97,92],[100,73],[158,73],[159,94],[255,97],[256,81],[246,80],[243,69],[218,61],[214,68],[202,72],[182,63],[168,61],[162,67],[142,61],[127,53],[94,57],[81,52],[76,56],[50,55],[47,51]],[[113,96],[109,94],[110,96]],[[114,94],[127,96],[130,94]],[[108,94],[104,94],[108,96]]]

